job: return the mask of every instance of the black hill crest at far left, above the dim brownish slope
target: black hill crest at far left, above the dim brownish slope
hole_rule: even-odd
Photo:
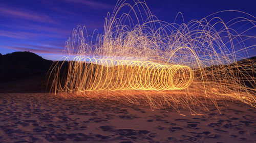
[[[13,52],[0,56],[0,83],[46,73],[53,63],[28,51]]]

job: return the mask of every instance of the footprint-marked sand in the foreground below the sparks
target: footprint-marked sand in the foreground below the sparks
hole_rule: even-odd
[[[128,103],[0,94],[0,142],[256,142],[256,109],[231,102],[182,116]]]

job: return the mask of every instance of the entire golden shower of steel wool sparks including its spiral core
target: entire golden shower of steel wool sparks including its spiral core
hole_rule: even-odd
[[[256,107],[256,63],[245,59],[255,50],[256,37],[247,33],[255,32],[256,18],[232,12],[245,17],[225,23],[216,13],[167,23],[153,16],[145,2],[118,1],[105,18],[103,34],[89,36],[85,26],[74,29],[63,62],[50,72],[52,91],[177,111],[207,108],[208,101],[218,108],[225,100]],[[235,30],[244,24],[251,27]]]

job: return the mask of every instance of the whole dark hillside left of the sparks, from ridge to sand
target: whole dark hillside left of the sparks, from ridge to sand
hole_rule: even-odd
[[[28,51],[0,54],[0,93],[46,91],[46,73],[52,64]]]

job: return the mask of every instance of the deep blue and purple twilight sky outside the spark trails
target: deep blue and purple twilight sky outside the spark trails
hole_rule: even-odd
[[[117,0],[1,0],[0,53],[31,51],[45,59],[56,60],[78,24],[85,25],[89,34],[95,29],[102,33],[106,14],[112,14],[116,3]],[[256,16],[256,1],[150,0],[146,4],[153,15],[166,22],[174,22],[179,12],[185,23],[223,10]],[[251,55],[255,55],[254,52]]]

